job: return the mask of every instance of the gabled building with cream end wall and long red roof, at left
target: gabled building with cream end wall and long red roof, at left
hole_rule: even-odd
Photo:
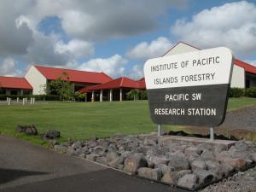
[[[49,90],[50,81],[58,79],[63,73],[67,73],[68,79],[66,80],[73,83],[73,88],[75,91],[80,90],[83,87],[103,84],[112,80],[112,78],[105,73],[43,67],[38,65],[33,65],[30,67],[25,78],[30,84],[32,84],[33,94],[40,95],[44,93],[44,87]]]

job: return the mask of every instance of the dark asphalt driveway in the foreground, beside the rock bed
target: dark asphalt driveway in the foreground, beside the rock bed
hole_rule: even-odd
[[[1,192],[177,191],[105,166],[0,135]]]

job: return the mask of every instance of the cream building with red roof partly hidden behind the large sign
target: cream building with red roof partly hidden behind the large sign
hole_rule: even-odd
[[[169,49],[166,55],[177,55],[186,52],[200,50],[193,45],[178,42],[172,49]],[[234,59],[234,67],[232,72],[231,87],[247,88],[256,86],[256,67],[244,61]]]

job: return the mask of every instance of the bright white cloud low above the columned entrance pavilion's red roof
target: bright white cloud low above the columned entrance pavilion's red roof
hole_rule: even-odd
[[[97,58],[84,62],[79,66],[79,70],[104,72],[112,77],[118,77],[124,74],[127,62],[121,55],[113,55],[106,59]]]

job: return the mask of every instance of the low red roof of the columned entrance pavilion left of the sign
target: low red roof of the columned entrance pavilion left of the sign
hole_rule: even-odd
[[[84,87],[79,92],[90,92],[91,90],[110,90],[119,88],[131,88],[131,89],[145,89],[145,79],[138,81],[121,77],[119,79],[113,79],[105,84],[97,84],[95,86]]]

